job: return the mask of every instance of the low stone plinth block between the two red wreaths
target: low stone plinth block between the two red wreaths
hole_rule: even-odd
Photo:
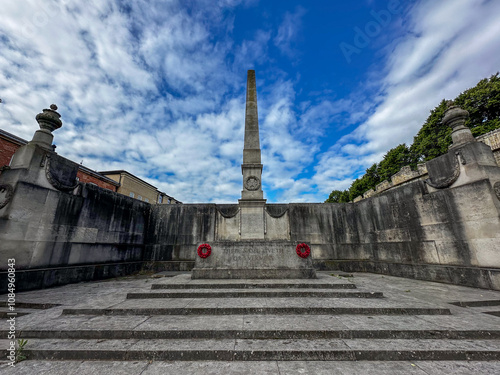
[[[196,256],[193,279],[315,279],[311,256],[297,255],[294,242],[235,241],[210,243],[208,258]]]

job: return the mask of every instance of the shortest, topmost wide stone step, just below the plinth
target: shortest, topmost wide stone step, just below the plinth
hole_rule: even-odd
[[[351,283],[165,283],[153,284],[151,289],[356,289]]]

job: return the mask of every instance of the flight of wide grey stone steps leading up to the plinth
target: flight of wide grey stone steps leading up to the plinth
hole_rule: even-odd
[[[21,317],[17,338],[28,340],[27,357],[89,363],[489,361],[500,367],[500,319],[437,302],[428,297],[436,288],[424,296],[403,282],[398,293],[392,284],[383,289],[374,283],[382,293],[370,290],[370,283],[326,275],[230,282],[180,275],[124,285],[107,294],[94,285],[96,298],[53,309],[51,319]],[[345,285],[354,287],[342,290]]]

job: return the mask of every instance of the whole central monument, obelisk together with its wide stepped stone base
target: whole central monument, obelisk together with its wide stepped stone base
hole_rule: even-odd
[[[273,205],[266,205],[264,199],[254,70],[248,71],[241,173],[241,199],[229,211],[216,208],[214,241],[199,245],[205,250],[210,245],[210,253],[207,251],[208,255],[203,256],[204,253],[198,252],[191,278],[316,278],[310,253],[303,256],[297,252],[300,240],[290,241],[288,208],[278,205],[281,207],[278,214],[276,207],[269,212],[269,206]],[[197,251],[201,251],[200,247]]]

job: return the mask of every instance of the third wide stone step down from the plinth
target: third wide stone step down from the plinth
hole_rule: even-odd
[[[449,309],[408,307],[180,307],[64,309],[64,315],[451,315]]]

